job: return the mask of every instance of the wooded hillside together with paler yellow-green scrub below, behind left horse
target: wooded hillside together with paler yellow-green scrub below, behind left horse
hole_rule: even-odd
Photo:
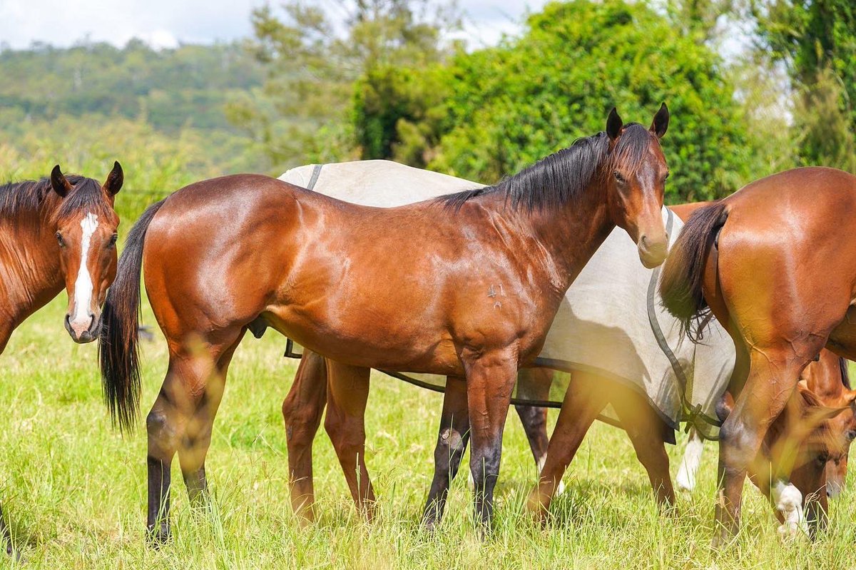
[[[264,77],[238,44],[0,50],[0,181],[43,176],[56,163],[106,172],[117,159],[142,204],[210,176],[279,174],[259,141],[226,119],[229,101]]]

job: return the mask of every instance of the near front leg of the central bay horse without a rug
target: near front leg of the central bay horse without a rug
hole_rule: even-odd
[[[470,417],[476,519],[483,532],[493,521],[493,491],[502,459],[502,431],[508,417],[511,393],[517,379],[517,358],[512,351],[484,353],[463,359],[467,372],[467,407]]]

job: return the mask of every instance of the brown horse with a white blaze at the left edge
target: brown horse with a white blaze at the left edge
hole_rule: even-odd
[[[113,197],[122,187],[113,165],[104,184],[78,175],[0,186],[0,352],[18,325],[68,292],[65,328],[75,342],[95,340],[100,305],[116,275]],[[12,552],[0,514],[0,535]]]

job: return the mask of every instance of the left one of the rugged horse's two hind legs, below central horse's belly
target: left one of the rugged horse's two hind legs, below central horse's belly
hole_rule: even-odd
[[[304,350],[294,383],[282,401],[282,418],[288,443],[288,477],[291,508],[308,523],[315,520],[312,483],[312,442],[327,404],[327,363],[323,356]]]

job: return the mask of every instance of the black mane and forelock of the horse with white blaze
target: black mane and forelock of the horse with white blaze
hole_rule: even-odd
[[[102,215],[112,210],[104,199],[104,190],[97,180],[81,175],[67,175],[66,180],[73,189],[62,199],[56,212],[51,212],[53,217],[68,217],[80,210]],[[47,177],[3,184],[0,186],[0,217],[17,217],[23,213],[39,212],[52,192],[51,179]]]

